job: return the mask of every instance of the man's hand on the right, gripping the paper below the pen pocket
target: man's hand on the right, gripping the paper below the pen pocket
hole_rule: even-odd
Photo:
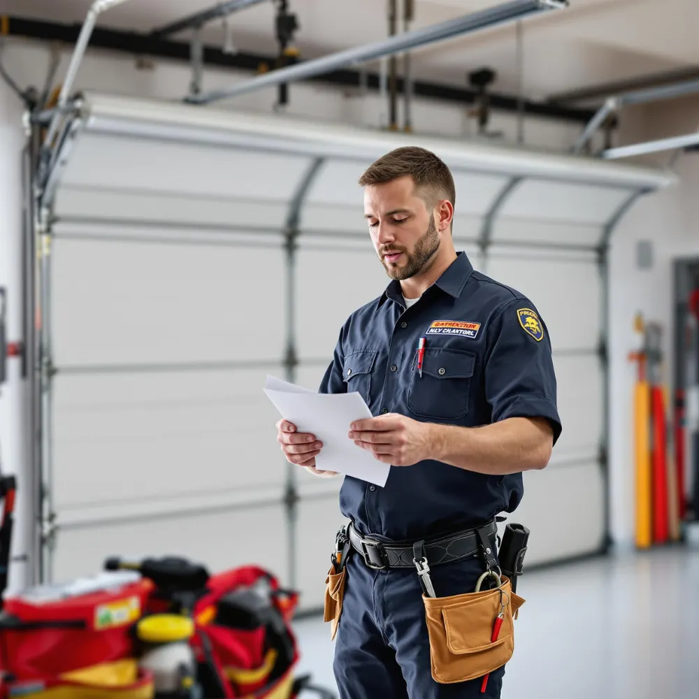
[[[373,452],[375,459],[392,466],[412,466],[430,457],[430,426],[405,415],[388,413],[380,417],[357,420],[350,427],[349,438],[362,449]]]

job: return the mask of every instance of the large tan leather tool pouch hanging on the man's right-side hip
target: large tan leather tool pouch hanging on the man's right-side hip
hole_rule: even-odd
[[[482,677],[512,657],[512,619],[524,599],[512,592],[506,577],[500,587],[492,590],[452,597],[423,596],[423,600],[435,682],[451,684]],[[503,624],[498,639],[492,641],[500,612],[504,612]]]

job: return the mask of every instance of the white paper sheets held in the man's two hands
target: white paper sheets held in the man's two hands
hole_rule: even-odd
[[[264,392],[299,432],[310,432],[323,442],[315,458],[319,470],[344,473],[380,487],[386,485],[391,466],[377,461],[347,436],[354,420],[373,417],[359,393],[319,394],[273,376],[267,377]]]

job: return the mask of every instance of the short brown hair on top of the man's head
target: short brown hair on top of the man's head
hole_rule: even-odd
[[[456,187],[446,164],[433,152],[417,146],[396,148],[373,162],[359,178],[362,187],[380,185],[410,175],[417,189],[424,192],[428,206],[449,199],[454,206]]]

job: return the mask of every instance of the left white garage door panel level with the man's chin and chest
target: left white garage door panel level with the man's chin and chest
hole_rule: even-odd
[[[64,240],[52,280],[58,366],[282,356],[281,250]]]

